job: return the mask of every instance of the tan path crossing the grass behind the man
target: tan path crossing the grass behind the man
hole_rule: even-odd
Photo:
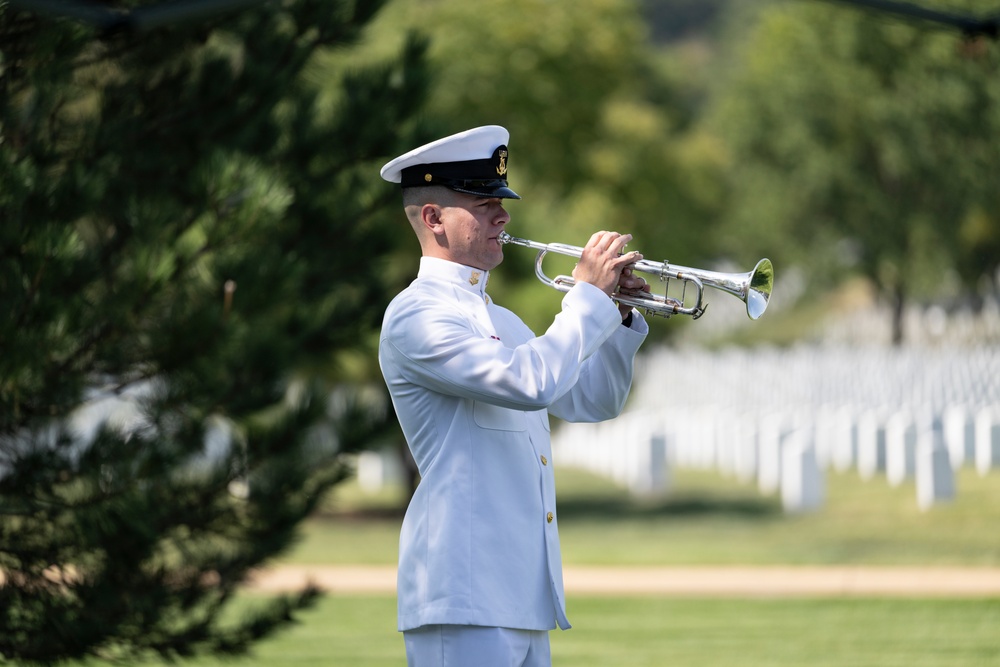
[[[952,567],[575,567],[570,595],[1000,597],[1000,568]],[[286,591],[312,582],[339,593],[395,593],[393,566],[280,566],[252,588]]]

